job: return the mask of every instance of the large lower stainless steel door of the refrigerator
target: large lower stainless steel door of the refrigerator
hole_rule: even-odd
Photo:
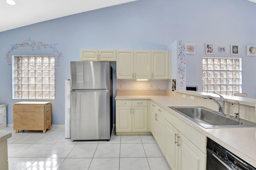
[[[110,139],[109,90],[71,90],[70,138],[72,140]]]

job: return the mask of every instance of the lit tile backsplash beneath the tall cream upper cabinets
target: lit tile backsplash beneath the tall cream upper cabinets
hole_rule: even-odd
[[[148,81],[136,81],[136,80],[124,80],[117,79],[116,89],[118,90],[167,90],[167,80],[148,80]]]

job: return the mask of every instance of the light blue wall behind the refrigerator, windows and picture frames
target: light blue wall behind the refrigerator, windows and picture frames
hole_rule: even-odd
[[[230,44],[239,44],[243,92],[256,97],[256,57],[246,56],[246,45],[256,45],[255,9],[247,0],[138,0],[0,32],[0,103],[8,104],[8,124],[13,103],[21,100],[12,99],[12,67],[5,55],[28,38],[57,43],[63,55],[56,67],[54,125],[64,124],[64,81],[70,79],[70,61],[80,60],[80,49],[166,50],[175,40],[196,43],[196,54],[187,55],[186,81],[202,89],[202,57],[236,57],[230,55]],[[204,43],[214,43],[214,55],[205,55]],[[219,53],[219,46],[227,51]],[[56,55],[51,49],[26,47],[11,54]]]

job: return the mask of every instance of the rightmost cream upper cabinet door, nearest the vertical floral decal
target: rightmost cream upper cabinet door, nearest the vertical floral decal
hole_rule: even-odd
[[[151,51],[151,78],[168,79],[168,51]]]

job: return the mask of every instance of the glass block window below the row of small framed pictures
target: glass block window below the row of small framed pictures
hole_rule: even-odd
[[[241,58],[202,58],[203,92],[242,93]]]

